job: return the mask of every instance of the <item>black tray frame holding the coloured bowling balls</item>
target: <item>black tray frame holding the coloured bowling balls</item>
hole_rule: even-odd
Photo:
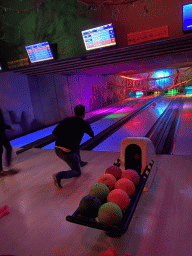
[[[133,217],[133,214],[135,212],[135,209],[136,209],[139,199],[141,197],[145,183],[146,183],[148,176],[150,174],[150,171],[153,167],[153,164],[154,164],[154,161],[152,160],[150,162],[150,164],[148,166],[146,166],[145,170],[143,171],[143,173],[140,177],[140,182],[135,187],[135,194],[132,196],[132,198],[130,200],[129,207],[123,213],[123,219],[120,224],[114,225],[114,226],[101,224],[96,219],[90,219],[90,218],[81,216],[78,208],[71,216],[70,215],[66,216],[66,220],[69,222],[72,222],[72,223],[79,224],[79,225],[104,230],[104,231],[106,231],[107,235],[110,237],[120,237],[128,229],[128,226],[131,222],[131,219]]]

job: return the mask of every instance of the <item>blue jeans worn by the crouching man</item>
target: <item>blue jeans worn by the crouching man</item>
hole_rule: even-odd
[[[81,157],[79,150],[76,152],[66,153],[59,148],[55,148],[55,153],[59,158],[65,161],[71,168],[71,170],[69,171],[58,172],[59,179],[69,179],[73,177],[79,177],[81,175]]]

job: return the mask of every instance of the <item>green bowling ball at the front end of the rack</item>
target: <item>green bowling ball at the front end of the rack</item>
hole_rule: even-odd
[[[122,221],[123,212],[115,203],[105,203],[99,208],[98,220],[101,224],[117,225]]]

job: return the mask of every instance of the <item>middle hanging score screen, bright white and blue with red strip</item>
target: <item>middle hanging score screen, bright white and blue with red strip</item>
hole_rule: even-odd
[[[87,51],[116,45],[115,33],[112,24],[84,30],[81,33]]]

